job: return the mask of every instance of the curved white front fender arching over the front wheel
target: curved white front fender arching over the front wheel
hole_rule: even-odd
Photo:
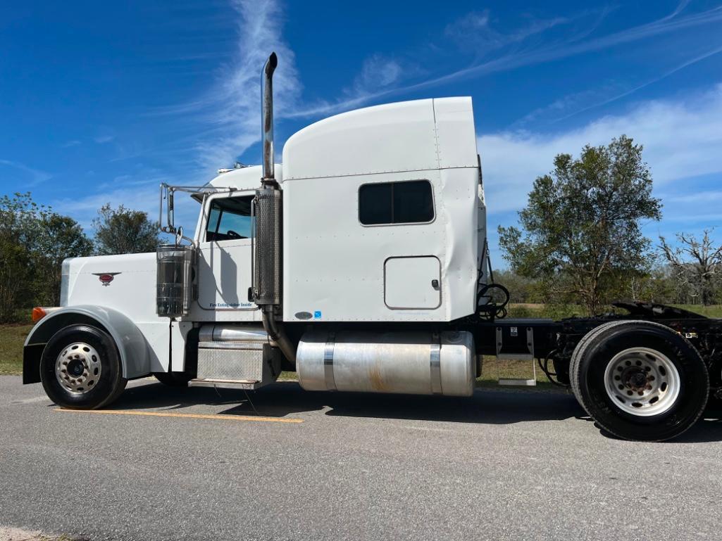
[[[100,327],[113,338],[123,364],[123,377],[131,379],[150,373],[148,343],[134,322],[112,308],[82,304],[52,312],[32,327],[23,348],[23,383],[40,381],[40,356],[45,344],[61,328],[77,324]]]

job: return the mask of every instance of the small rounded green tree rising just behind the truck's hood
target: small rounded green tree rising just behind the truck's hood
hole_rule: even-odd
[[[148,214],[121,205],[111,208],[110,203],[97,211],[93,220],[95,248],[101,255],[155,252],[160,242],[158,224]]]

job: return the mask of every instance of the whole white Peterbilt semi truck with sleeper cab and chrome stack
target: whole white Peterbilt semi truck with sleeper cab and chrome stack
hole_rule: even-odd
[[[719,320],[644,303],[503,317],[471,98],[326,118],[274,164],[276,66],[273,54],[263,165],[162,185],[176,242],[156,253],[65,260],[61,306],[38,310],[25,342],[24,383],[64,408],[106,407],[150,374],[255,390],[282,370],[308,391],[469,396],[482,356],[536,359],[606,431],[638,440],[678,436],[720,394]],[[192,235],[175,225],[175,193],[198,202]]]

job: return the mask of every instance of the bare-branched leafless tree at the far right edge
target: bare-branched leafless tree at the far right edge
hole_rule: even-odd
[[[722,245],[715,247],[711,231],[705,229],[701,240],[692,234],[677,233],[677,247],[671,247],[664,237],[659,237],[659,247],[679,287],[688,287],[692,296],[705,306],[713,303],[715,290],[722,281]]]

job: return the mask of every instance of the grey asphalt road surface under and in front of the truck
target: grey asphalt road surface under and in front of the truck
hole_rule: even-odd
[[[0,526],[89,540],[719,540],[722,421],[613,439],[571,395],[174,390],[109,413],[0,377]]]

